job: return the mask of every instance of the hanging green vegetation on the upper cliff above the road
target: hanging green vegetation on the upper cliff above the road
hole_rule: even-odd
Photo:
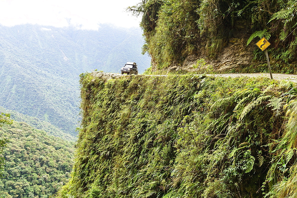
[[[215,59],[234,35],[251,36],[247,43],[265,36],[281,65],[297,60],[296,0],[142,0],[128,9],[142,15],[143,51],[159,69],[191,54]],[[256,46],[254,55],[265,57]],[[296,72],[293,65],[286,72]]]

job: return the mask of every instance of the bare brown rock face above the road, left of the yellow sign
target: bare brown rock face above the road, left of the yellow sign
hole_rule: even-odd
[[[197,51],[189,54],[182,64],[172,64],[168,67],[168,71],[208,71],[211,68],[212,71],[219,73],[228,71],[240,72],[252,63],[266,63],[266,59],[254,60],[253,52],[257,49],[255,45],[257,38],[247,46],[247,40],[253,33],[247,28],[249,26],[250,24],[247,21],[237,21],[232,37],[215,58],[207,56],[207,43],[201,39],[201,43],[197,44],[199,45],[199,47],[197,46]],[[197,63],[197,61],[200,63]],[[154,67],[152,69],[154,70]]]

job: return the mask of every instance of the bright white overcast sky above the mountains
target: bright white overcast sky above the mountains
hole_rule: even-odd
[[[6,26],[40,24],[56,27],[82,25],[98,29],[98,23],[139,27],[140,17],[126,12],[141,0],[0,0],[0,23]],[[68,19],[68,22],[67,22]]]

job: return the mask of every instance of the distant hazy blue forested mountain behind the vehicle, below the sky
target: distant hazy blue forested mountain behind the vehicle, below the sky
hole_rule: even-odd
[[[150,59],[141,55],[142,44],[137,28],[0,26],[0,106],[76,135],[79,74],[118,72],[127,61],[138,63],[143,72]]]

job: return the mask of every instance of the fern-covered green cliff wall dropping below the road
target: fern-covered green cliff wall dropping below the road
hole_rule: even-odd
[[[297,89],[267,78],[81,76],[61,197],[296,197]]]

